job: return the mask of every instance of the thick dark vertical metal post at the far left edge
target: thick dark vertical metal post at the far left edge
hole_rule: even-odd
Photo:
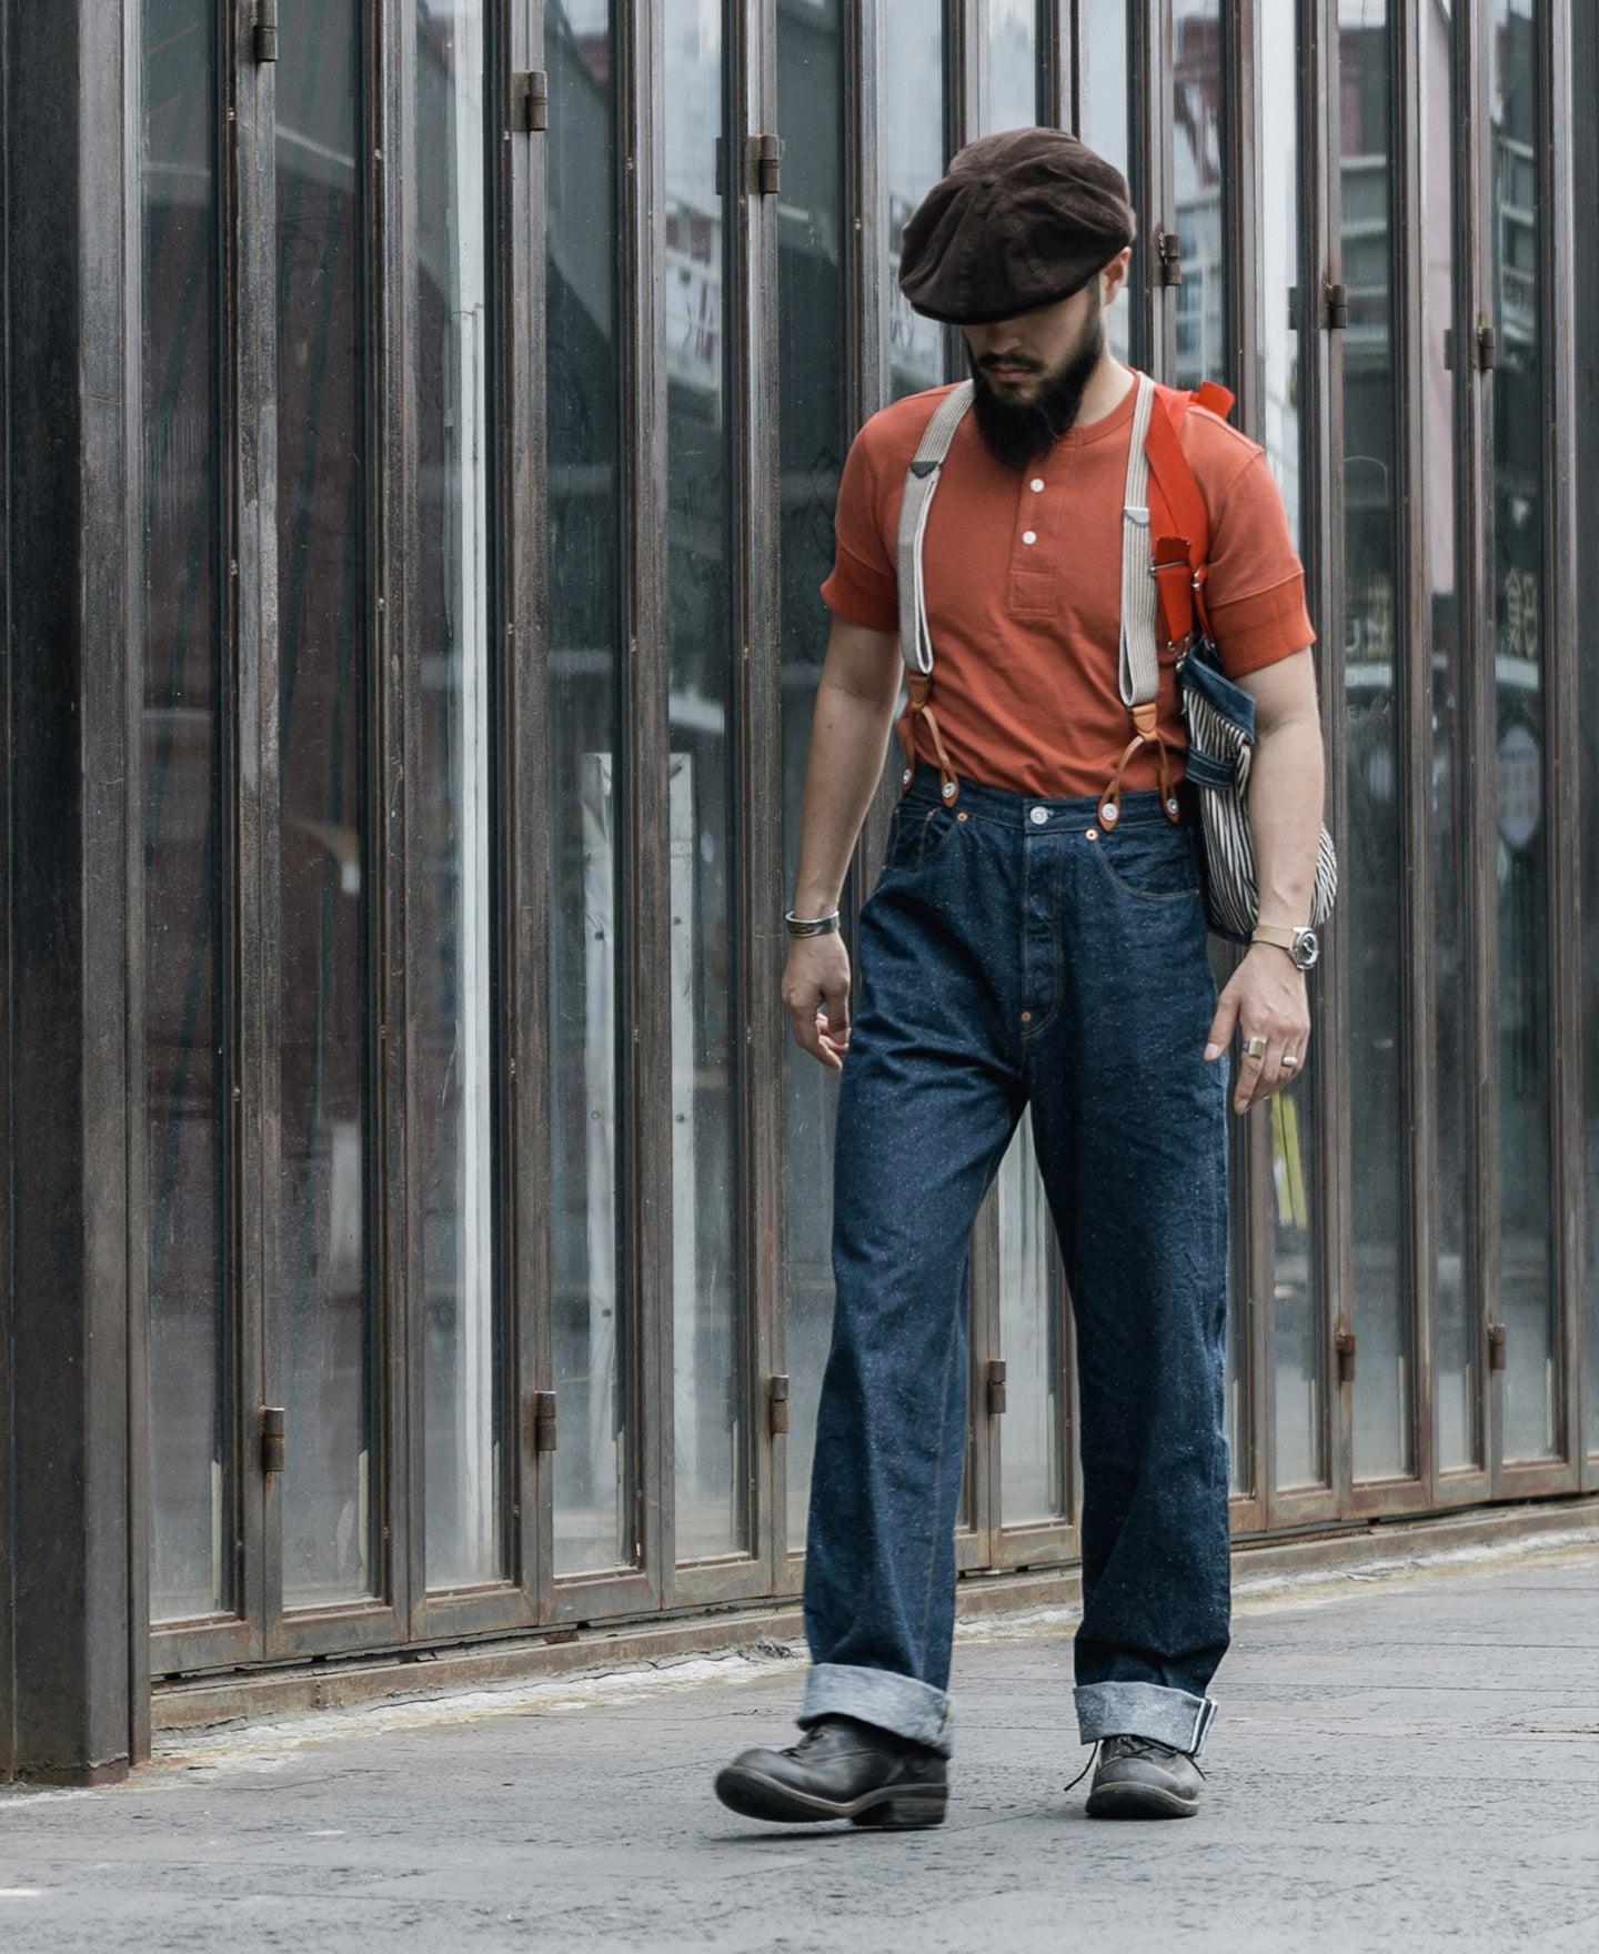
[[[127,1026],[131,602],[127,369],[139,281],[121,10],[10,10],[4,1202],[8,1624],[0,1763],[104,1784],[141,1737],[129,1510]],[[117,131],[106,141],[106,131]],[[135,233],[137,238],[137,233]],[[137,1477],[133,1481],[137,1487]]]

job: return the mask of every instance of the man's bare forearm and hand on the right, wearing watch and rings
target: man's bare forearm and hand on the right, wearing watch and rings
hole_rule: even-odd
[[[1249,762],[1249,838],[1261,922],[1310,918],[1316,844],[1321,834],[1323,756],[1316,709],[1316,660],[1310,647],[1237,680],[1255,700],[1255,754]],[[1220,1057],[1233,1034],[1265,1036],[1259,1059],[1239,1059],[1233,1112],[1247,1112],[1304,1071],[1310,1043],[1306,977],[1275,944],[1255,944],[1228,979],[1210,1024],[1206,1059]],[[1292,1051],[1298,1065],[1284,1067]]]

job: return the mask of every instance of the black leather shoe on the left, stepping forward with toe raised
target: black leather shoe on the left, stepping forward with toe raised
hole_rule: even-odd
[[[825,1716],[786,1751],[741,1751],[715,1796],[747,1819],[811,1825],[848,1819],[884,1831],[942,1825],[948,1759],[876,1723]]]

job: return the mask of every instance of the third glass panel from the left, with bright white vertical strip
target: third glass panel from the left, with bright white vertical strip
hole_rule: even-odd
[[[489,1012],[485,0],[416,12],[416,602],[411,998],[422,1112],[428,1585],[506,1571]]]

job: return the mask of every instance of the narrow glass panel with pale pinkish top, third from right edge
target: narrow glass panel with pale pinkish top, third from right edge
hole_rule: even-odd
[[[1470,696],[1460,645],[1456,580],[1454,375],[1450,322],[1454,317],[1454,10],[1452,0],[1427,0],[1421,45],[1421,444],[1427,496],[1427,662],[1433,694],[1433,997],[1437,1002],[1437,1450],[1439,1469],[1474,1466],[1478,1446],[1478,1372],[1472,1284],[1466,1266],[1470,1239],[1470,961],[1464,928],[1468,873],[1462,846],[1466,813],[1466,754]]]

